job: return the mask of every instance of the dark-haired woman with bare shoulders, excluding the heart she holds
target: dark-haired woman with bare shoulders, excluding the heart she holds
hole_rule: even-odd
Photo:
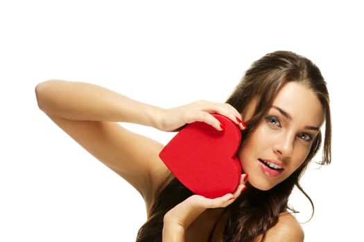
[[[309,59],[288,51],[262,57],[225,104],[162,109],[101,86],[59,80],[42,82],[35,92],[49,118],[143,196],[148,219],[137,241],[303,241],[288,196],[294,186],[304,192],[300,177],[320,149],[323,122],[321,164],[331,162],[329,93]],[[193,195],[173,177],[158,156],[163,145],[116,123],[175,131],[202,121],[222,130],[210,113],[225,115],[243,132],[236,154],[241,184],[215,199]]]

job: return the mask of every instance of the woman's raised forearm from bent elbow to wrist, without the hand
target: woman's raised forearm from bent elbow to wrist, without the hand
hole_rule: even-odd
[[[162,111],[85,82],[49,80],[38,84],[35,93],[42,111],[67,120],[132,122],[157,127]]]

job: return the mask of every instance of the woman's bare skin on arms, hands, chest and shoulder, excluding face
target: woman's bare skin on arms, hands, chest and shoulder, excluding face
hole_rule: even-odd
[[[244,129],[236,120],[243,120],[241,113],[229,104],[201,100],[162,109],[131,100],[101,86],[62,80],[42,82],[36,86],[35,93],[40,109],[58,127],[137,189],[144,198],[147,211],[170,174],[158,156],[164,145],[128,131],[117,122],[173,131],[184,124],[202,121],[221,130],[218,120],[210,115],[219,113]],[[201,234],[208,236],[212,229],[211,221],[217,221],[222,208],[241,195],[245,187],[244,176],[234,194],[216,199],[193,195],[170,210],[164,217],[164,241],[193,241]],[[214,241],[222,241],[226,218],[218,222]],[[302,227],[293,216],[282,214],[277,225],[268,231],[265,241],[303,241]]]

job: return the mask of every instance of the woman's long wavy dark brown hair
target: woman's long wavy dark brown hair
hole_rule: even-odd
[[[331,115],[327,84],[320,69],[313,62],[289,51],[269,53],[254,62],[227,99],[227,103],[242,113],[253,102],[256,104],[252,118],[246,122],[248,129],[243,131],[242,143],[248,140],[250,134],[257,128],[257,124],[286,82],[300,82],[313,91],[320,100],[325,114],[325,129],[322,160],[319,163],[328,165],[331,162]],[[232,205],[225,208],[225,212],[232,215],[225,225],[224,241],[248,242],[256,240],[259,236],[263,240],[266,232],[277,224],[279,214],[287,210],[295,212],[288,207],[288,198],[295,186],[303,192],[313,207],[311,198],[300,185],[300,178],[309,162],[318,153],[321,142],[320,131],[313,140],[306,160],[286,180],[268,191],[261,191],[248,185],[243,196],[239,196]],[[159,193],[157,201],[148,213],[150,214],[148,220],[138,232],[137,241],[162,241],[164,214],[192,194],[173,178]]]

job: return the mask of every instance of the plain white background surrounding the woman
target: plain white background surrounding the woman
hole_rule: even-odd
[[[0,241],[135,241],[146,218],[141,196],[38,109],[36,84],[90,82],[163,107],[225,102],[275,50],[309,57],[331,95],[332,164],[302,179],[315,203],[306,241],[359,241],[364,17],[354,1],[322,2],[1,1]],[[291,204],[310,217],[302,194]]]

